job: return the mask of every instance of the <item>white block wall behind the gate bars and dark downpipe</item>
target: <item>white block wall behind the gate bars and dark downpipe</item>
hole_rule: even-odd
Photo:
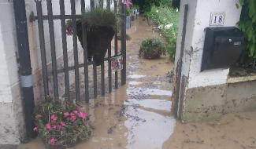
[[[34,82],[34,93],[36,102],[43,96],[41,57],[39,49],[39,33],[37,21],[30,22],[29,15],[34,11],[36,15],[35,1],[25,0],[28,35],[32,59],[32,71]],[[54,15],[59,14],[58,0],[53,0]],[[85,1],[89,6],[90,1]],[[65,12],[70,14],[70,0],[65,0]],[[76,13],[80,14],[80,0],[76,0]],[[20,76],[17,64],[17,36],[13,12],[13,0],[0,0],[0,144],[20,144],[24,140],[25,125],[23,102],[20,92]],[[43,14],[46,14],[46,1],[43,1]],[[56,53],[58,56],[58,67],[63,66],[62,44],[61,44],[61,21],[54,20],[54,35]],[[50,37],[47,21],[44,21],[46,59],[48,70],[51,70]],[[68,37],[69,65],[73,64],[72,36]],[[82,52],[82,50],[80,50]],[[80,54],[83,56],[83,54]],[[72,83],[73,73],[70,74]],[[58,75],[60,94],[64,93],[64,75]],[[50,89],[52,95],[52,79],[50,78]]]

